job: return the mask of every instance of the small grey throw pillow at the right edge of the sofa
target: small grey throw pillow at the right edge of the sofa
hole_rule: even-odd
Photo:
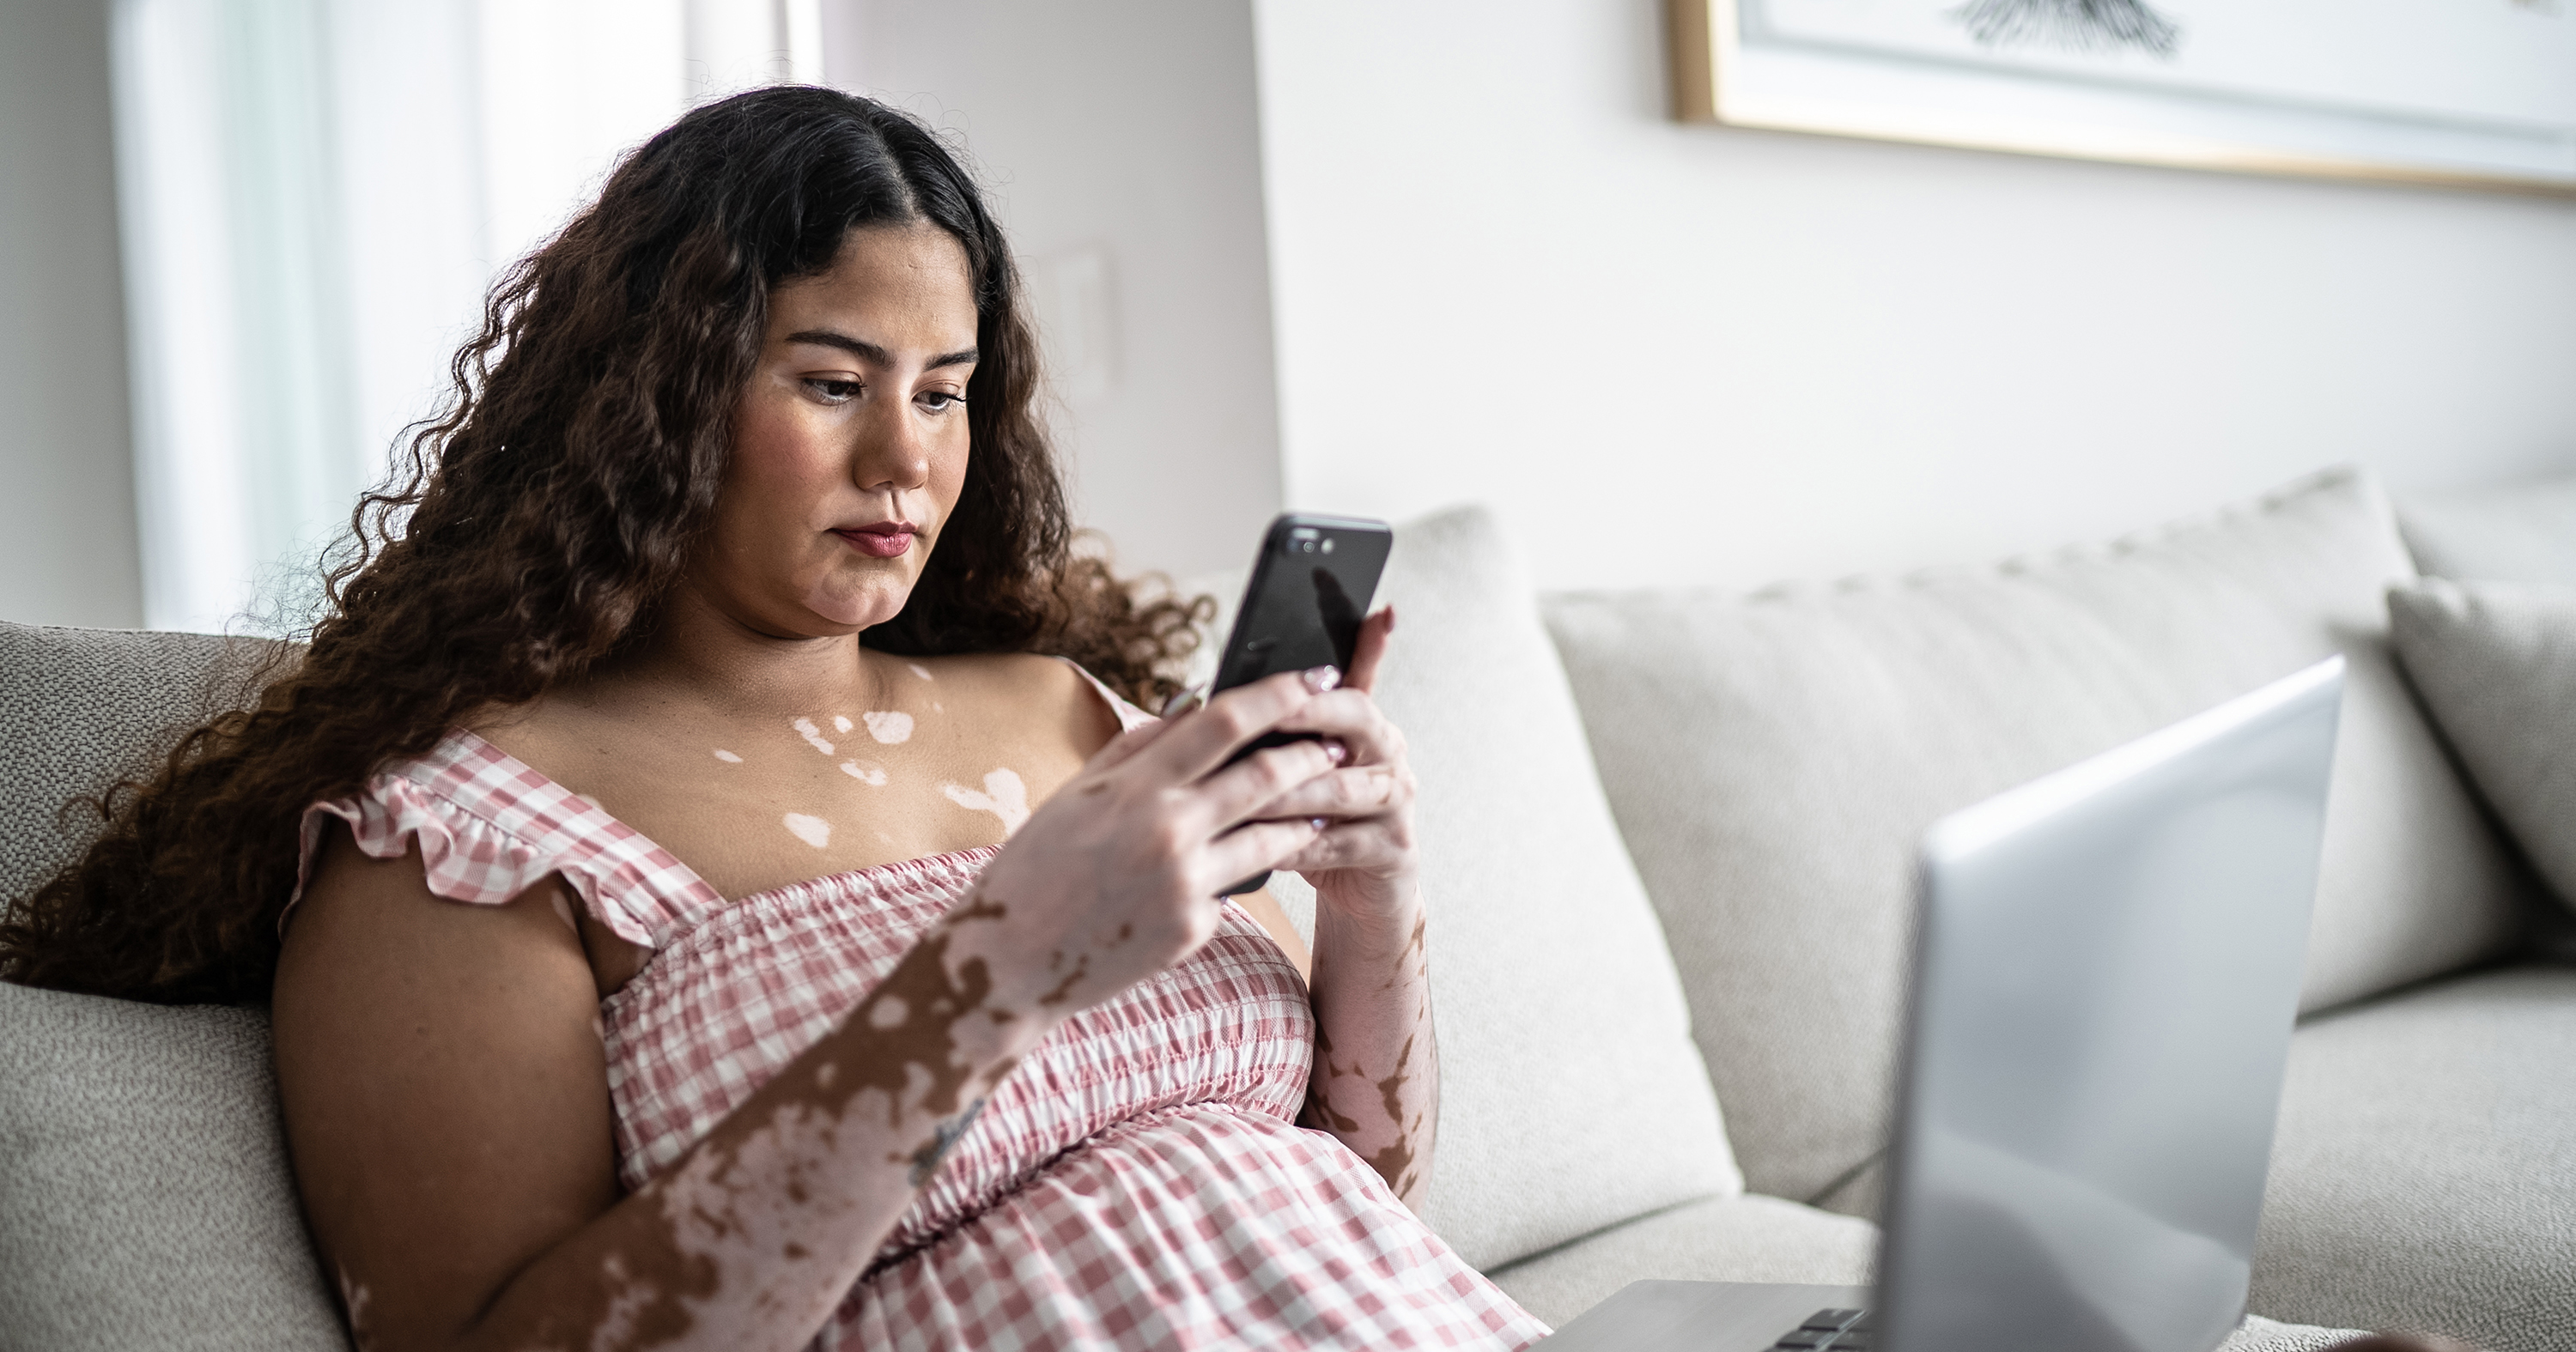
[[[2576,587],[2421,579],[2388,636],[2522,852],[2576,906]]]

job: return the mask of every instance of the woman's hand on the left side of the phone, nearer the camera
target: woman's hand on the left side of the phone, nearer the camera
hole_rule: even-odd
[[[1327,690],[1329,667],[1275,675],[1113,739],[951,912],[951,966],[981,958],[992,1007],[1054,1020],[1195,953],[1216,932],[1218,888],[1329,834],[1314,822],[1327,814],[1265,803],[1334,775],[1342,752],[1293,742],[1226,765],[1244,742],[1293,729],[1334,698]]]

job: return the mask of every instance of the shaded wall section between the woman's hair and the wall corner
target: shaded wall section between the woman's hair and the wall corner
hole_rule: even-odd
[[[951,131],[1046,330],[1077,518],[1128,569],[1242,564],[1278,510],[1242,0],[855,0],[824,72]]]

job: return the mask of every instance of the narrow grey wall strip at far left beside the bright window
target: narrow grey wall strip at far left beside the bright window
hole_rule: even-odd
[[[0,5],[0,618],[142,623],[106,0]]]

